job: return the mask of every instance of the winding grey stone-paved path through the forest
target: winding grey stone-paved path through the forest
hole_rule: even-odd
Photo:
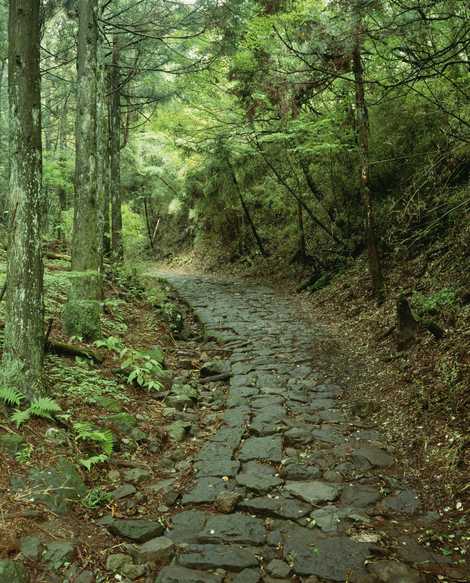
[[[410,535],[435,517],[397,479],[383,436],[353,415],[348,387],[321,380],[315,331],[291,303],[259,285],[166,279],[230,350],[232,377],[157,583],[437,581],[421,571],[443,559]]]

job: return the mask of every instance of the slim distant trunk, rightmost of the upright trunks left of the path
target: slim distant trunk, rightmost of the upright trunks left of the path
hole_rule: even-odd
[[[117,36],[113,40],[113,61],[111,66],[111,116],[110,116],[110,158],[111,158],[111,241],[114,261],[124,258],[122,244],[121,209],[121,79],[119,74],[120,48]]]

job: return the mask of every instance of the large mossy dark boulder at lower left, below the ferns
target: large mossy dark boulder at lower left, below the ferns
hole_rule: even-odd
[[[11,485],[13,490],[27,490],[29,499],[42,502],[57,514],[68,512],[87,493],[77,468],[65,458],[44,470],[33,468],[26,480],[13,478]]]

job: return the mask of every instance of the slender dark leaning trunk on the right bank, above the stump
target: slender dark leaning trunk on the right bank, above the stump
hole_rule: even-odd
[[[361,55],[362,19],[357,15],[354,31],[353,71],[356,94],[356,131],[359,145],[361,170],[361,198],[365,211],[365,227],[367,237],[367,253],[369,272],[372,280],[372,290],[378,303],[384,300],[384,281],[380,264],[375,225],[375,213],[372,195],[369,188],[369,121],[364,90],[364,67]]]

